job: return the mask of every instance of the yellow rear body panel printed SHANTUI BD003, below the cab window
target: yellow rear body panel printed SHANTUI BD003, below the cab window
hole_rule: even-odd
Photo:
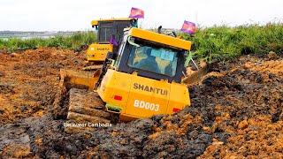
[[[106,72],[97,93],[103,102],[121,109],[122,120],[172,114],[190,105],[186,85],[113,69]]]

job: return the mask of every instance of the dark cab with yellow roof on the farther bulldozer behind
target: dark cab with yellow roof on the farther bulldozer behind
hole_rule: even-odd
[[[117,42],[120,42],[124,28],[137,27],[137,19],[100,19],[93,20],[91,24],[97,30],[98,43],[109,43],[111,36]]]

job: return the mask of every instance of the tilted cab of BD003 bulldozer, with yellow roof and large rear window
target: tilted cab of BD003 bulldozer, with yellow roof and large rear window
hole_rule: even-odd
[[[131,28],[125,32],[113,65],[119,72],[180,83],[190,46],[190,42],[169,35]]]

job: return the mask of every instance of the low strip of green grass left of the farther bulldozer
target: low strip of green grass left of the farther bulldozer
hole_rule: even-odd
[[[80,49],[82,45],[88,45],[96,42],[96,34],[92,31],[76,32],[69,36],[57,35],[47,39],[32,38],[19,39],[10,38],[8,40],[0,39],[0,49],[6,49],[8,52],[21,49],[36,49],[39,47],[57,47],[62,49]]]

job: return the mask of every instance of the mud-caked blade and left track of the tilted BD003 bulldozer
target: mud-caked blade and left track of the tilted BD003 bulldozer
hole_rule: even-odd
[[[94,87],[100,70],[84,72],[60,70],[60,82],[53,103],[53,116],[66,119],[67,124],[88,125],[88,123],[111,123],[110,113],[104,111],[104,103]],[[66,133],[80,133],[91,130],[89,127],[67,126]]]

